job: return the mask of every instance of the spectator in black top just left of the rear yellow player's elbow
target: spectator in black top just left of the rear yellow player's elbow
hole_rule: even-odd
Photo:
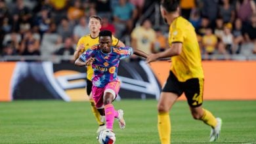
[[[62,63],[72,63],[73,59],[70,57],[73,56],[75,50],[73,46],[72,39],[70,37],[65,39],[64,46],[54,52],[55,55],[62,56]]]

